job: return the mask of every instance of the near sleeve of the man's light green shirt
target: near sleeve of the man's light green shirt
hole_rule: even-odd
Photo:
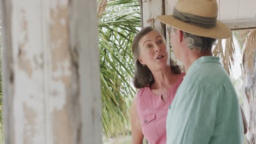
[[[167,143],[208,143],[217,118],[216,97],[209,89],[191,83],[183,88],[178,94],[182,98],[169,109]]]

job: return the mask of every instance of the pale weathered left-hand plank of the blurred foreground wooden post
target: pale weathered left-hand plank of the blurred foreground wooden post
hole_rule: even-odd
[[[3,62],[8,65],[3,71],[4,73],[11,72],[12,77],[4,81],[6,85],[4,97],[8,99],[8,105],[4,107],[9,108],[7,110],[9,116],[5,115],[4,122],[10,121],[8,126],[4,127],[8,129],[5,142],[45,143],[44,116],[41,114],[44,113],[42,101],[44,85],[38,83],[38,81],[43,81],[43,49],[40,46],[42,25],[40,25],[40,8],[38,7],[40,1],[13,0],[3,3],[9,5],[12,10],[9,7],[3,12],[4,20],[7,15],[10,16],[10,21],[4,22],[4,29],[9,25],[9,31],[5,33],[10,37],[8,37],[9,40],[5,39],[8,47],[4,45],[4,53],[9,53],[9,55],[3,59]],[[8,61],[11,63],[7,63]],[[9,113],[10,110],[12,111]]]

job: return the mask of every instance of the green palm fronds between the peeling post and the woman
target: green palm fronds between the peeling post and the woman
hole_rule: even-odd
[[[107,1],[106,8],[100,9],[104,9],[98,16],[102,122],[109,137],[129,133],[129,110],[135,94],[131,42],[141,21],[137,0]]]

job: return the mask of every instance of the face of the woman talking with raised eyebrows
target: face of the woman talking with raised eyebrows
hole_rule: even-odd
[[[164,38],[158,31],[149,32],[141,38],[139,52],[139,62],[147,65],[150,70],[163,69],[168,63],[168,50]]]

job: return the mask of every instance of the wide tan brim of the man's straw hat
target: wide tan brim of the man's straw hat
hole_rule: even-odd
[[[217,21],[214,28],[201,28],[189,23],[183,22],[176,19],[172,15],[159,15],[157,16],[158,20],[169,25],[171,27],[181,29],[184,32],[191,33],[194,35],[199,35],[201,37],[208,37],[214,39],[227,39],[231,37],[232,32],[228,26],[224,23]]]

